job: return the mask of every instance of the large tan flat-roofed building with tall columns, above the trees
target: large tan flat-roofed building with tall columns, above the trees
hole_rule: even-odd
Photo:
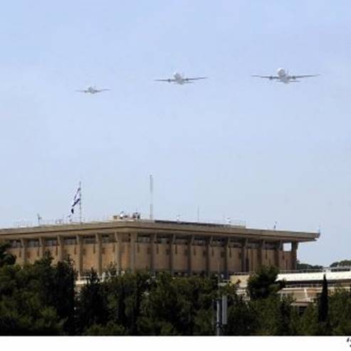
[[[80,277],[94,268],[118,272],[169,271],[177,275],[255,271],[259,266],[296,269],[298,243],[320,234],[248,229],[244,225],[144,220],[140,216],[83,224],[0,229],[20,264],[38,260],[45,251],[54,263],[73,259]],[[284,244],[289,243],[288,251]]]

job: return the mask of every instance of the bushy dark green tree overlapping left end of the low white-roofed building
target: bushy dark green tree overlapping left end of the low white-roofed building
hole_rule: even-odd
[[[260,298],[268,298],[270,295],[274,295],[281,290],[285,283],[283,281],[276,281],[278,277],[278,268],[261,267],[256,273],[253,273],[248,278],[248,295],[251,300],[257,300]]]

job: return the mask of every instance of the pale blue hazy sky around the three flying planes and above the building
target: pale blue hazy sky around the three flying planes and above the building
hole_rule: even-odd
[[[0,227],[121,210],[320,230],[300,261],[350,258],[351,2],[6,1]],[[283,67],[301,83],[252,78]],[[175,71],[208,77],[155,82]],[[85,95],[88,85],[111,91]]]

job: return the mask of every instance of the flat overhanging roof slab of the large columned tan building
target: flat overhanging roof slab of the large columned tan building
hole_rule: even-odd
[[[167,221],[148,219],[117,219],[86,223],[66,223],[55,225],[28,226],[11,229],[0,229],[0,239],[16,239],[26,236],[28,239],[38,236],[56,236],[73,234],[111,234],[130,233],[159,234],[179,236],[226,236],[238,239],[266,241],[303,242],[315,241],[319,233],[304,231],[281,231],[270,229],[250,229],[246,226],[231,224],[198,223],[189,221]]]

